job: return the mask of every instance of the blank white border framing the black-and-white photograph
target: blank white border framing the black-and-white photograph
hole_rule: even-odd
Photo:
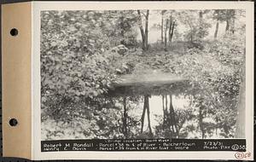
[[[236,152],[51,152],[41,153],[40,11],[122,9],[246,9],[246,139],[253,159],[253,3],[252,2],[32,2],[32,159],[236,159]]]

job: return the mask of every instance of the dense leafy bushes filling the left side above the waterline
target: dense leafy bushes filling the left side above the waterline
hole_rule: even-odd
[[[85,12],[85,11],[84,11]],[[114,75],[108,67],[107,37],[99,13],[93,11],[42,13],[42,94],[97,96],[106,92]],[[103,37],[102,37],[103,36]]]

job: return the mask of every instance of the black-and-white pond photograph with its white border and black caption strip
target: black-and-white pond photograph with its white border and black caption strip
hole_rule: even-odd
[[[31,9],[30,159],[253,159],[253,3]]]

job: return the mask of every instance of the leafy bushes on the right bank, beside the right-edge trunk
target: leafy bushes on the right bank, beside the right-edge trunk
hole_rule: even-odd
[[[203,50],[189,49],[190,55],[179,57],[169,67],[190,79],[196,107],[204,107],[204,116],[211,114],[218,127],[225,130],[226,136],[236,124],[241,68],[245,57],[243,42],[237,41],[238,38],[236,41],[230,39],[234,38],[208,43]]]

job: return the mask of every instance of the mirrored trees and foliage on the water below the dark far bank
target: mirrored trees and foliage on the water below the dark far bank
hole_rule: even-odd
[[[221,112],[223,107],[211,112],[200,101],[194,95],[169,93],[104,96],[84,100],[84,105],[72,102],[67,105],[70,110],[79,111],[68,110],[65,122],[58,117],[67,114],[66,109],[55,119],[44,119],[42,139],[233,138],[236,119]]]

